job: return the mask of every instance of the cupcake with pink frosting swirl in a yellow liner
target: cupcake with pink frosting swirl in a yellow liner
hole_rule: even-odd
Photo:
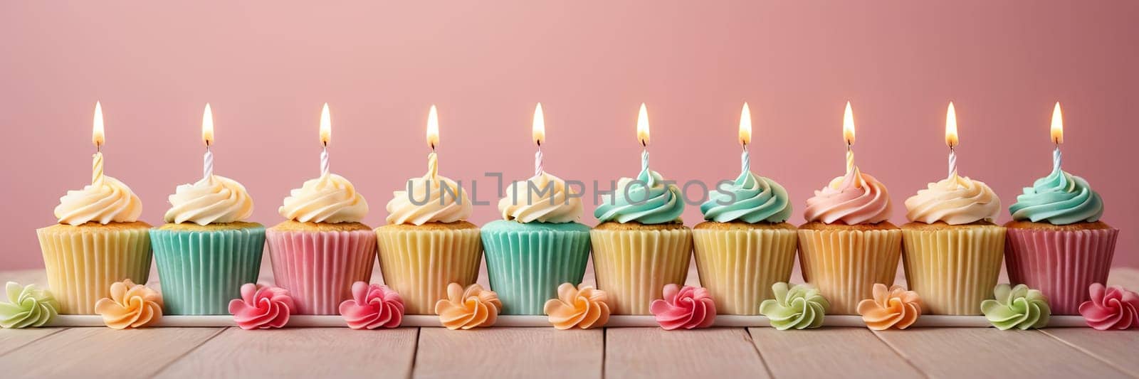
[[[806,200],[798,259],[803,279],[830,302],[827,314],[858,314],[875,283],[894,283],[902,231],[887,221],[890,211],[886,187],[858,167]]]

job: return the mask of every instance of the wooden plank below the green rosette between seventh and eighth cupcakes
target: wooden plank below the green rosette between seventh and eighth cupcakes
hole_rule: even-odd
[[[866,328],[749,328],[776,378],[920,378],[921,372]]]

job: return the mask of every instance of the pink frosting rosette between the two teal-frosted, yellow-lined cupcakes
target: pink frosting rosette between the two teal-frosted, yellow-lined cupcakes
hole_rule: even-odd
[[[664,286],[664,298],[653,300],[649,311],[664,330],[707,328],[715,321],[715,303],[704,287]]]

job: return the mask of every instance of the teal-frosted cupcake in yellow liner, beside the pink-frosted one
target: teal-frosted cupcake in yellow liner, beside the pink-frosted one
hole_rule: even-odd
[[[721,314],[760,314],[771,286],[790,280],[798,237],[787,223],[787,190],[745,171],[718,186],[700,205],[705,222],[693,229],[700,285]]]

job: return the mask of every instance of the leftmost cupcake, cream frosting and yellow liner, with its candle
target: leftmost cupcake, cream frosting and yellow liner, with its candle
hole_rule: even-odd
[[[138,221],[141,213],[139,197],[103,174],[97,153],[91,184],[59,198],[58,224],[35,230],[59,313],[95,314],[95,303],[110,296],[112,283],[146,283],[150,225]]]

